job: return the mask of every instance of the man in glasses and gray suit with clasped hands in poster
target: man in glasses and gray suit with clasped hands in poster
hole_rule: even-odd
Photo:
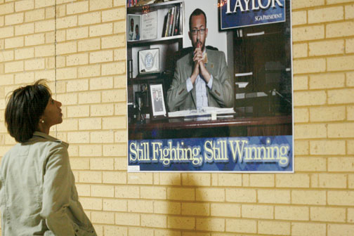
[[[169,111],[233,107],[233,83],[225,54],[205,47],[208,28],[204,11],[195,9],[189,26],[193,51],[176,63],[171,88],[167,91]]]

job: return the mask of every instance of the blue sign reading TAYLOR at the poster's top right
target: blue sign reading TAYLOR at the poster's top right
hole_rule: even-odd
[[[284,0],[221,0],[221,29],[285,21]]]

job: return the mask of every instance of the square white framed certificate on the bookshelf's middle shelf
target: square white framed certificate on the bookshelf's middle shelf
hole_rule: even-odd
[[[159,48],[140,50],[139,74],[159,72]]]

